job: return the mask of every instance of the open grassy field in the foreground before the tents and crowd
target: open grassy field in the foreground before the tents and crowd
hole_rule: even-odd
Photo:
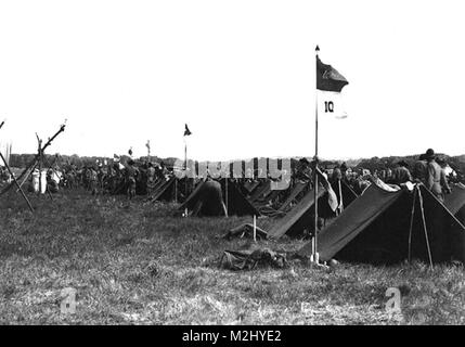
[[[464,324],[462,266],[315,268],[234,272],[220,236],[250,218],[172,217],[173,205],[128,204],[87,192],[0,198],[0,323],[3,324]],[[295,250],[302,241],[260,242]],[[77,291],[75,314],[61,293]],[[385,309],[398,287],[401,313]]]

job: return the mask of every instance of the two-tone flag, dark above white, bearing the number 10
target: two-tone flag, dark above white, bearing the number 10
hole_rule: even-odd
[[[347,118],[341,90],[349,82],[333,66],[322,63],[317,55],[318,110],[324,115]]]

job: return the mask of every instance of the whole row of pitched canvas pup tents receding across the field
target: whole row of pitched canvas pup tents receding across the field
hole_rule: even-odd
[[[153,198],[172,197],[177,182],[171,178],[159,183]],[[202,180],[179,207],[179,211],[195,211],[194,216],[222,215],[221,198],[229,216],[260,216],[268,202],[282,191],[272,190],[270,181]],[[178,187],[179,189],[179,187]],[[340,214],[331,207],[331,191],[337,204],[344,202]],[[215,193],[216,192],[216,193]],[[176,193],[176,192],[175,192]],[[281,218],[270,218],[267,237],[312,232],[314,191],[308,182],[296,181],[285,192],[276,208]],[[325,224],[319,232],[318,250],[322,261],[338,260],[392,264],[404,259],[442,262],[451,259],[465,262],[465,185],[453,187],[444,204],[423,184],[412,191],[388,191],[371,184],[360,196],[350,187],[321,185],[318,190],[318,214]],[[196,209],[203,202],[202,208]],[[327,222],[326,222],[327,221]],[[311,254],[311,244],[298,254]]]

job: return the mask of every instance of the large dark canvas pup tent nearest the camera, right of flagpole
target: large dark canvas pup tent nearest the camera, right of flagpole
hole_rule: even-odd
[[[423,185],[428,243],[434,262],[451,258],[465,261],[465,227]],[[408,258],[413,193],[387,192],[372,184],[319,235],[320,259],[333,257],[358,262],[391,264]],[[418,194],[411,237],[412,258],[429,261]],[[298,254],[311,254],[311,244]]]

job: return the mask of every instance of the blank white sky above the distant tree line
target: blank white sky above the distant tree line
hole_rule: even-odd
[[[319,156],[465,153],[461,1],[3,1],[0,142],[34,153],[314,155],[315,52],[348,117]]]

